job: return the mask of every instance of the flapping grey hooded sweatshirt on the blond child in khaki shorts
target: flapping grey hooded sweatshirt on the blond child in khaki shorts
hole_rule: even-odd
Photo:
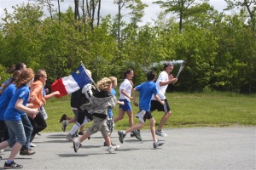
[[[90,103],[82,105],[80,108],[86,109],[90,114],[99,118],[107,118],[108,109],[113,109],[117,104],[117,99],[107,91],[93,94],[90,98]]]

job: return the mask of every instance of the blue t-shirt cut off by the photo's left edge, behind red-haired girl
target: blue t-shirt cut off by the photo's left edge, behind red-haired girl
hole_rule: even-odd
[[[4,112],[9,105],[9,101],[15,95],[15,90],[15,84],[10,83],[9,86],[4,89],[3,94],[0,96],[0,121],[4,121]]]

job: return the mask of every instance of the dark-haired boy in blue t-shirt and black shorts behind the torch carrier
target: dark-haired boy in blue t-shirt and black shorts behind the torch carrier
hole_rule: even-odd
[[[154,133],[155,121],[154,121],[154,117],[151,115],[151,112],[150,112],[150,102],[151,102],[152,95],[154,95],[154,98],[157,99],[162,105],[164,105],[164,101],[161,101],[159,96],[157,95],[158,91],[157,91],[156,85],[154,83],[155,72],[148,71],[147,79],[148,79],[147,82],[143,82],[142,84],[133,88],[133,104],[136,106],[139,106],[139,108],[140,108],[140,111],[136,115],[137,118],[139,118],[139,122],[137,123],[137,125],[134,125],[125,131],[118,131],[119,141],[120,141],[120,143],[123,143],[126,133],[131,133],[132,131],[136,131],[137,129],[142,128],[144,126],[146,119],[148,119],[150,122],[150,130],[152,133],[152,138],[154,141],[153,146],[154,146],[154,148],[157,148],[160,145],[164,144],[164,141],[160,141],[160,140],[156,139],[156,136]],[[139,105],[138,105],[137,99],[136,99],[137,91],[140,92]],[[135,135],[137,135],[137,133],[135,133]]]

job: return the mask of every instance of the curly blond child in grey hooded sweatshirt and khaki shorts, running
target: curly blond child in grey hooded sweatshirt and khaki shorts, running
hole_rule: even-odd
[[[119,145],[112,145],[110,140],[110,132],[107,125],[108,109],[113,109],[117,104],[117,99],[113,94],[110,94],[112,82],[109,78],[104,77],[97,82],[97,87],[100,92],[93,94],[90,98],[90,103],[82,105],[82,110],[86,109],[93,116],[93,124],[86,129],[86,132],[80,139],[73,140],[73,150],[77,152],[81,147],[81,143],[90,137],[90,135],[98,132],[102,133],[103,138],[108,144],[108,152],[112,153],[119,149]]]

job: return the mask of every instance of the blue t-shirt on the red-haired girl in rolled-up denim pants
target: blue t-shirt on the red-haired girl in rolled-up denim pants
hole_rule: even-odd
[[[17,88],[15,95],[9,102],[7,110],[4,113],[4,120],[5,121],[20,121],[21,117],[24,116],[26,113],[23,111],[19,111],[15,109],[15,104],[18,99],[22,99],[22,105],[26,105],[29,99],[29,89],[26,85],[23,85],[21,88]]]

